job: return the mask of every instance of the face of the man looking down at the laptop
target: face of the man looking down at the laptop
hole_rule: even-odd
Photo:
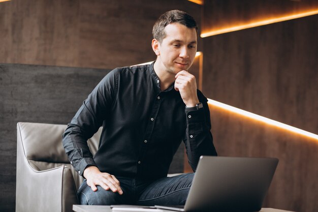
[[[197,52],[197,32],[180,23],[171,23],[165,27],[166,37],[158,42],[157,60],[160,66],[171,74],[188,70]]]

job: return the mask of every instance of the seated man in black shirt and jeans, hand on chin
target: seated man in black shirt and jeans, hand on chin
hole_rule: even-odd
[[[187,72],[197,36],[193,17],[163,14],[153,26],[155,62],[111,71],[83,102],[63,134],[71,164],[85,178],[81,204],[185,203],[194,174],[167,177],[181,140],[194,171],[201,155],[216,155],[207,99]],[[92,156],[87,139],[101,126]]]

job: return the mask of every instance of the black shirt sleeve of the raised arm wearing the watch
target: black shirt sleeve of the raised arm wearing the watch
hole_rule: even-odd
[[[207,98],[198,90],[199,101],[203,108],[185,108],[186,131],[183,142],[188,162],[196,171],[201,156],[217,156],[211,130],[210,110]]]

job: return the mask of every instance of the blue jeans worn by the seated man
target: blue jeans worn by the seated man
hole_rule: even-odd
[[[78,190],[80,204],[86,205],[184,205],[193,180],[193,173],[164,177],[157,180],[140,180],[116,177],[122,195],[97,186],[93,192],[84,180]]]

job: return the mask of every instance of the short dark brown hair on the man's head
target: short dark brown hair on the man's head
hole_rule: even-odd
[[[152,28],[153,38],[162,42],[166,37],[165,27],[170,23],[180,23],[188,28],[195,28],[198,35],[197,22],[192,16],[180,10],[171,10],[162,14],[154,23]]]

